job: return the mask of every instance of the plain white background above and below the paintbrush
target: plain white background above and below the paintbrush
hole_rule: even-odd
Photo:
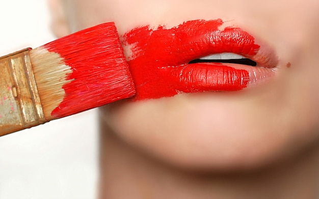
[[[55,40],[45,0],[2,0],[0,9],[0,55]],[[90,110],[0,137],[0,198],[95,198],[96,121]]]

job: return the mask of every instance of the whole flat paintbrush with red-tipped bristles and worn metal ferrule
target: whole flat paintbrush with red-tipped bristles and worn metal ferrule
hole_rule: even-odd
[[[90,27],[0,58],[0,136],[134,94],[115,24]]]

